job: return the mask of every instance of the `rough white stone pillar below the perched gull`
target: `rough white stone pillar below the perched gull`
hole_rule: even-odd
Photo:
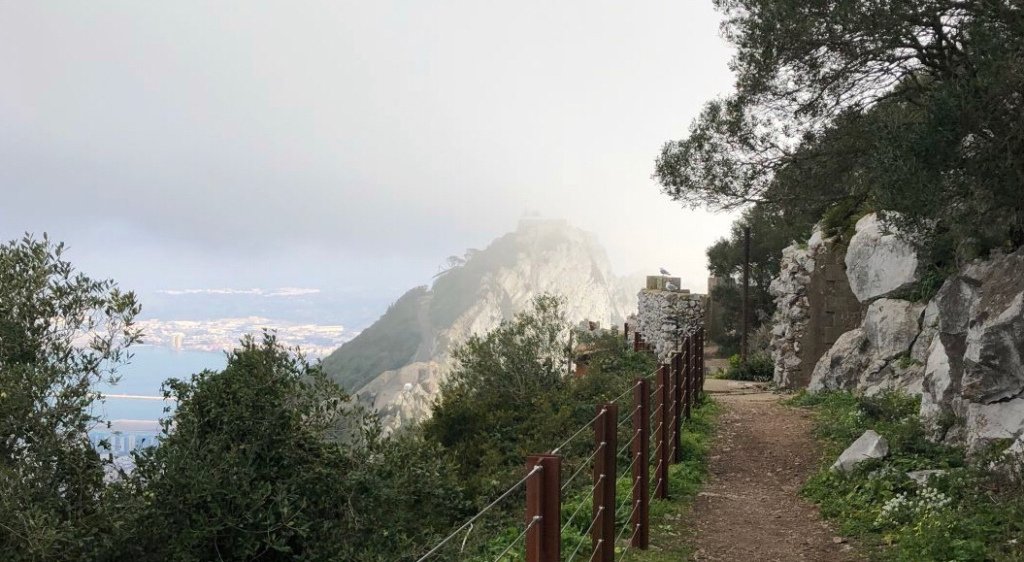
[[[665,361],[683,336],[703,325],[703,295],[644,289],[638,295],[637,331]]]

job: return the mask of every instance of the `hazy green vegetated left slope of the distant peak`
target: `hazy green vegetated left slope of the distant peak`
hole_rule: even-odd
[[[383,316],[324,358],[324,371],[349,392],[374,377],[410,362],[425,337],[419,321],[426,287],[418,287],[388,307]]]

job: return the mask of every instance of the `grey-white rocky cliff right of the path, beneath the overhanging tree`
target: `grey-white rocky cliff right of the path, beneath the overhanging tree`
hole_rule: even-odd
[[[868,215],[846,266],[867,308],[818,359],[809,389],[920,394],[936,439],[1024,450],[1024,249],[970,263],[929,302],[911,302],[900,297],[918,280],[916,255]]]

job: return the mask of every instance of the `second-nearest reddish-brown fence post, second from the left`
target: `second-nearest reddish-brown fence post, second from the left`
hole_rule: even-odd
[[[594,554],[591,560],[613,562],[615,559],[615,469],[618,465],[618,405],[599,404],[599,414],[594,422],[594,446],[598,447],[594,458],[594,527],[591,544]],[[603,414],[602,414],[603,412]]]

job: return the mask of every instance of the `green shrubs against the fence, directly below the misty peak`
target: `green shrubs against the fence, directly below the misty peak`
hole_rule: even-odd
[[[596,406],[653,370],[645,353],[621,338],[591,342],[590,371],[566,378],[569,327],[550,296],[454,352],[458,361],[441,387],[424,434],[461,463],[474,492],[488,495],[515,481],[526,455],[549,450],[594,418]],[[579,443],[570,443],[567,455]]]

